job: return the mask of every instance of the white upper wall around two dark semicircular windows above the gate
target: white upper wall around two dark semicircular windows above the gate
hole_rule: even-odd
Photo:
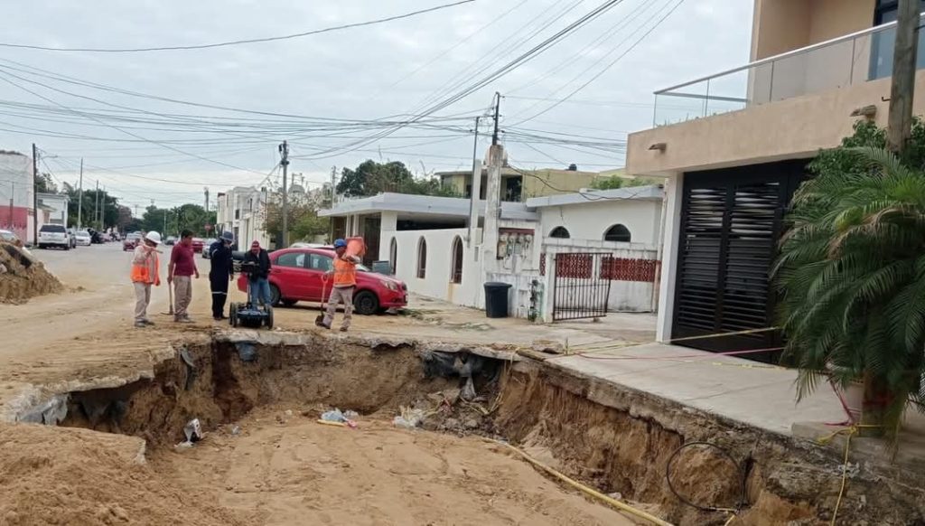
[[[549,236],[556,227],[565,227],[572,239],[601,241],[611,226],[622,224],[633,243],[659,242],[661,202],[651,200],[602,200],[561,207],[541,207],[540,237]]]

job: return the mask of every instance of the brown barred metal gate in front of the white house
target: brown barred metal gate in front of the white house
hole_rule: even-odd
[[[611,254],[572,252],[553,257],[552,320],[603,318],[611,281],[602,268]]]

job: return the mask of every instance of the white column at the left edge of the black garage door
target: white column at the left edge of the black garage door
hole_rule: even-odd
[[[684,174],[678,173],[669,181],[666,188],[666,220],[664,248],[661,253],[661,282],[659,291],[659,318],[656,324],[655,339],[667,342],[672,339],[672,319],[674,319],[674,281],[678,272],[681,234],[681,202],[684,198]]]

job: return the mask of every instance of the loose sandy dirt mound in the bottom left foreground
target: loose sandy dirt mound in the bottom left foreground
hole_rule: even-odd
[[[0,424],[0,524],[240,524],[143,464],[138,438]]]

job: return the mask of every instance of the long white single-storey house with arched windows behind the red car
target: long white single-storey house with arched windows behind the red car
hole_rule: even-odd
[[[492,218],[485,201],[387,193],[343,201],[319,215],[333,219],[337,237],[364,237],[367,263],[388,261],[414,293],[483,308],[484,283],[505,282],[512,285],[512,316],[553,320],[569,302],[655,307],[662,194],[660,186],[582,190],[499,202]],[[547,268],[561,269],[562,279]],[[573,294],[586,285],[596,287],[594,297]]]

